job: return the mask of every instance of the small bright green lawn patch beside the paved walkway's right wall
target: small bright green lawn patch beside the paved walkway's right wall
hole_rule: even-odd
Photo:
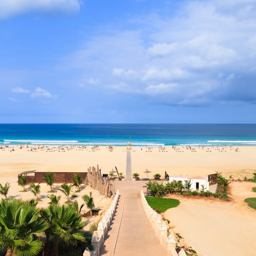
[[[146,196],[145,197],[150,207],[157,210],[158,212],[165,212],[167,209],[177,207],[180,201],[172,198],[157,198]]]

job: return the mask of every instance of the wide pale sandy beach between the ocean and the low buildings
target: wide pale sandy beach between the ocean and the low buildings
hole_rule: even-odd
[[[158,147],[132,147],[132,172],[140,173],[140,177],[147,177],[146,169],[150,171],[148,177],[165,171],[169,175],[201,175],[221,172],[235,179],[250,177],[256,168],[256,147],[210,147],[210,148],[172,148],[165,147],[165,151]],[[17,177],[20,172],[29,170],[43,170],[52,166],[81,165],[86,168],[96,166],[102,173],[108,174],[117,167],[125,175],[126,147],[113,147],[109,151],[106,146],[92,147],[46,147],[35,150],[27,148],[10,152],[9,148],[0,150],[0,177]]]

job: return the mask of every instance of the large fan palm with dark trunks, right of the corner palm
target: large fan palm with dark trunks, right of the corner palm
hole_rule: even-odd
[[[52,204],[47,209],[41,210],[42,218],[46,219],[49,227],[44,230],[46,242],[44,256],[49,256],[49,244],[52,241],[52,256],[58,256],[60,241],[68,245],[76,245],[78,241],[85,241],[82,228],[87,222],[81,222],[81,215],[77,213],[73,205]]]

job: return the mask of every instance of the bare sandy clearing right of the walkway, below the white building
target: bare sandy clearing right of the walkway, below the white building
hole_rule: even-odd
[[[180,200],[177,208],[164,216],[198,253],[207,256],[255,256],[256,210],[244,199],[255,197],[255,183],[233,182],[230,202],[215,198],[172,196]]]

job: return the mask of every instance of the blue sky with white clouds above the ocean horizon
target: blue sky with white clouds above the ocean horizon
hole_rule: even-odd
[[[1,0],[2,123],[256,123],[256,0]]]

